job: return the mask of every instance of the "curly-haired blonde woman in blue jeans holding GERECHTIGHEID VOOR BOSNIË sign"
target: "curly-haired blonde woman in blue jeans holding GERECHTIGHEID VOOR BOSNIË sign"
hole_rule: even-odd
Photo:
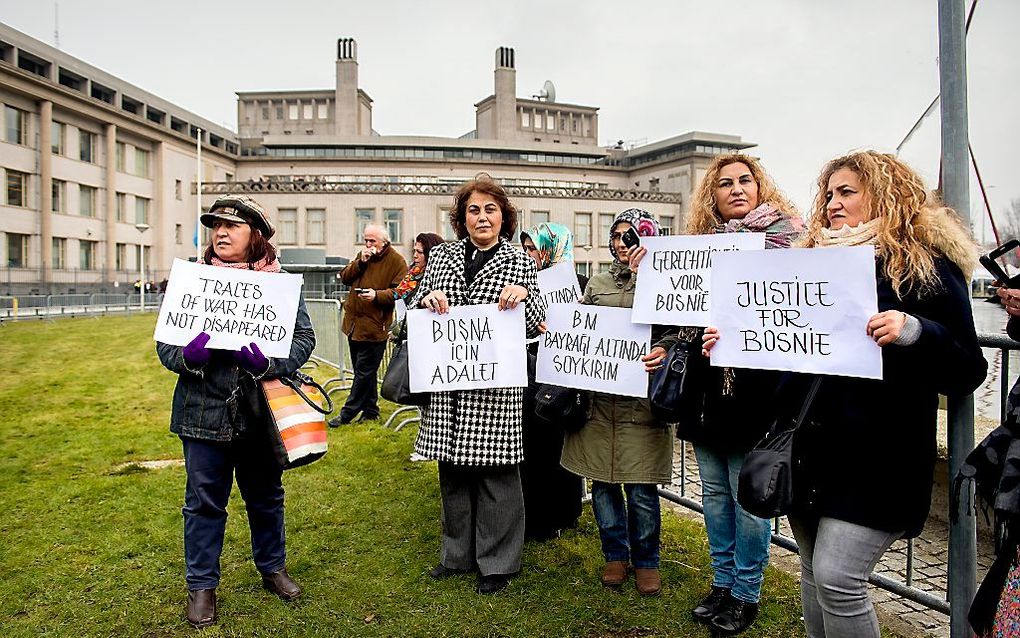
[[[788,248],[803,233],[804,222],[757,159],[730,154],[709,164],[695,192],[686,231],[764,233],[766,248]],[[678,332],[667,347],[677,340],[701,344],[701,328]],[[653,348],[650,355],[665,353]],[[653,358],[650,371],[658,363]],[[736,479],[748,451],[768,430],[762,405],[774,394],[779,374],[710,367],[700,356],[690,357],[688,365],[683,394],[690,409],[676,435],[694,445],[698,457],[712,558],[711,590],[692,614],[716,633],[730,635],[754,623],[768,565],[771,525],[736,501]]]

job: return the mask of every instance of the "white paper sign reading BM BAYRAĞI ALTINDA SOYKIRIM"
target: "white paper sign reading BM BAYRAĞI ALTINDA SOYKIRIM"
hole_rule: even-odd
[[[648,396],[652,327],[630,323],[630,308],[554,304],[539,339],[536,381],[622,396]]]

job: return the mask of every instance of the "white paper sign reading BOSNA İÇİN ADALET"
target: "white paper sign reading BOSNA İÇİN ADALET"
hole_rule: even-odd
[[[407,311],[411,392],[447,392],[527,385],[524,306],[457,306],[446,314]]]

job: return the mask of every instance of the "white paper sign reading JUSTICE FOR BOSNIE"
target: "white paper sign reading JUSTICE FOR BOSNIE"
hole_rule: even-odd
[[[873,246],[715,255],[712,365],[882,378]]]

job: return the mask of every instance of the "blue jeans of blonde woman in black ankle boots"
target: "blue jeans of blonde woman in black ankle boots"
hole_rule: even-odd
[[[722,454],[695,446],[702,480],[705,531],[712,556],[712,585],[731,590],[744,602],[758,602],[768,565],[771,524],[736,502],[737,477],[745,454]]]

